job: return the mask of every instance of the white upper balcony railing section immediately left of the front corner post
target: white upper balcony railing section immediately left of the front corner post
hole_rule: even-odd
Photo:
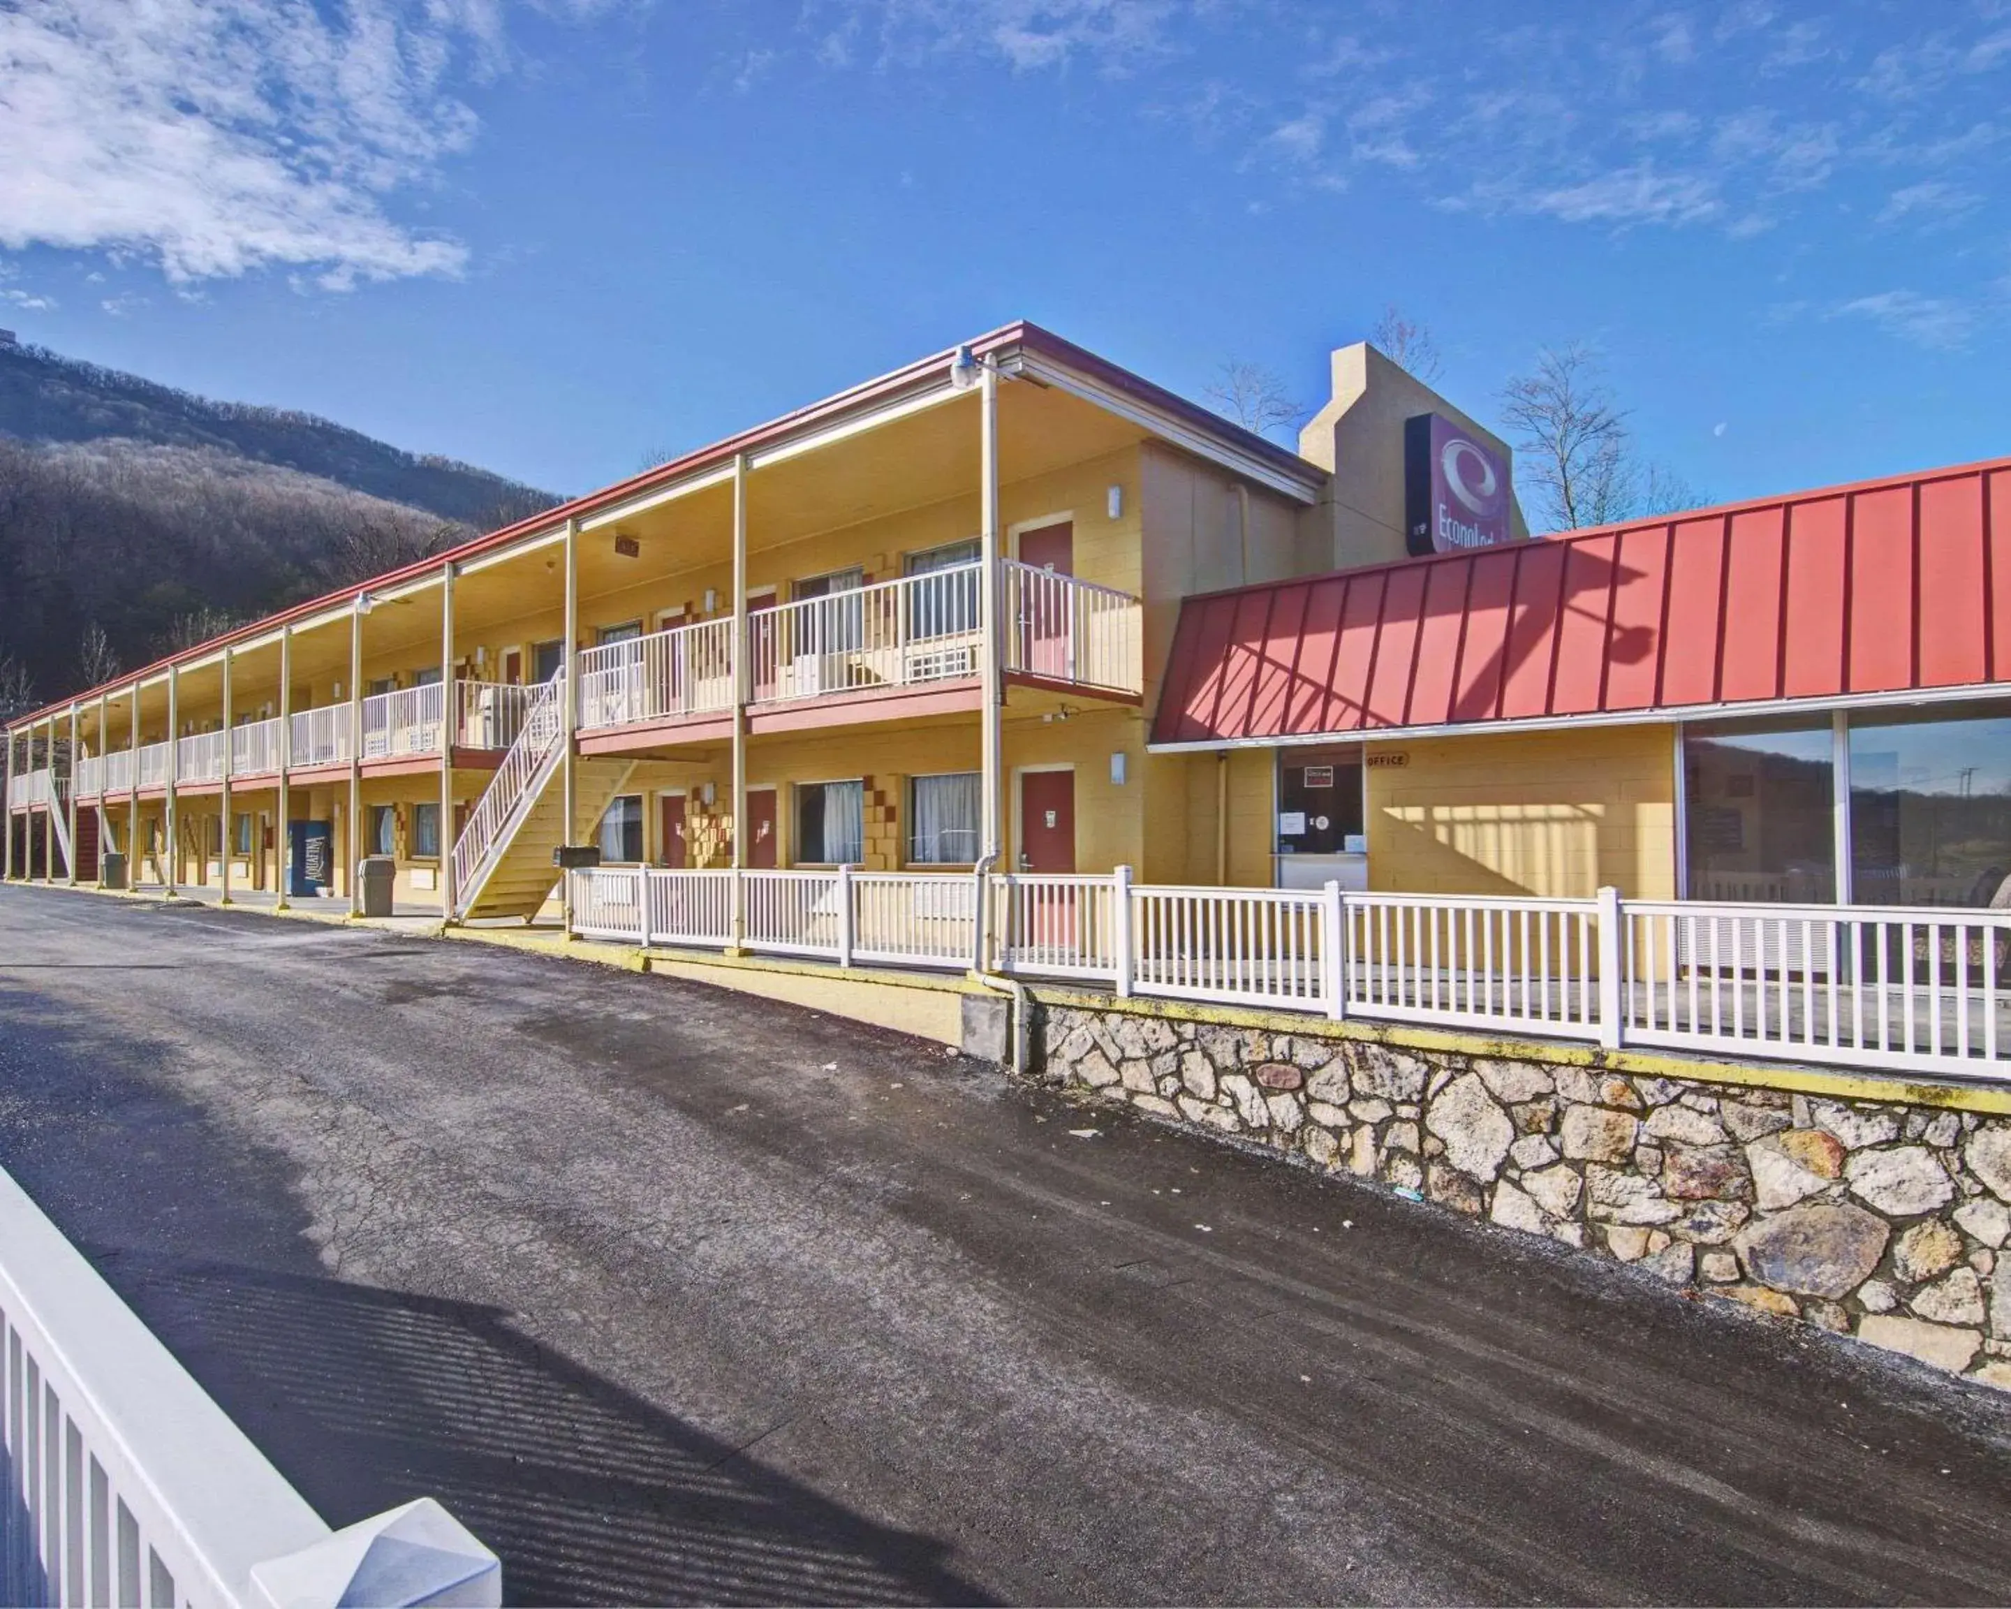
[[[981,619],[979,565],[762,609],[748,617],[752,702],[975,676]]]

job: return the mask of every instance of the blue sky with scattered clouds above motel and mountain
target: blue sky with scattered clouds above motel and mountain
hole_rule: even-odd
[[[32,0],[0,324],[585,491],[1018,316],[1313,404],[1394,302],[1729,499],[2011,451],[2007,88],[1997,0]]]

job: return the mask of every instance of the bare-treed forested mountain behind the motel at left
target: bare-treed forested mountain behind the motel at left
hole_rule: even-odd
[[[0,346],[0,712],[557,501],[314,414]]]

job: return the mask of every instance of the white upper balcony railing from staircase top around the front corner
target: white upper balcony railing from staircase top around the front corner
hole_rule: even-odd
[[[983,696],[979,565],[907,575],[748,615],[748,730],[975,712]],[[1136,702],[1138,599],[999,563],[1014,684]],[[678,625],[579,656],[581,752],[732,732],[732,619]]]

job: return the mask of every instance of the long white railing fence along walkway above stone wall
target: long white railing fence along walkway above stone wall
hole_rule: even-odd
[[[730,945],[732,871],[573,873],[573,925]],[[989,965],[1120,996],[2001,1078],[2011,911],[1134,885],[1092,875],[742,871],[748,949]],[[979,931],[979,913],[983,927]],[[648,921],[646,921],[648,917]]]

